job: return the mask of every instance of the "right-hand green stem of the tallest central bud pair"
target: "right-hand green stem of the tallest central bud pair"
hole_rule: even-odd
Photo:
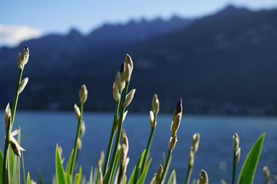
[[[124,88],[124,92],[123,92],[123,99],[122,101],[120,102],[121,104],[121,107],[120,107],[120,116],[119,116],[119,121],[118,121],[118,132],[116,133],[116,143],[114,144],[114,152],[112,154],[112,157],[111,157],[111,163],[109,165],[109,167],[111,168],[111,170],[109,170],[109,172],[107,174],[111,174],[112,173],[112,168],[114,167],[114,164],[115,164],[115,159],[116,159],[116,152],[117,152],[117,148],[118,148],[118,145],[119,145],[119,141],[120,141],[120,136],[121,136],[121,131],[122,131],[122,124],[123,124],[123,114],[125,112],[125,108],[123,107],[123,103],[126,99],[126,95],[127,95],[127,90],[128,90],[128,87],[129,87],[129,83],[126,83],[125,85],[125,88]],[[108,177],[109,177],[108,175]],[[109,178],[110,180],[111,178]],[[109,181],[108,181],[109,182]],[[106,184],[106,183],[105,183]]]

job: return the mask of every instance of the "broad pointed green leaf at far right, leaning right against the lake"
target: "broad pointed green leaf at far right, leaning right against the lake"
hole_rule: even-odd
[[[263,133],[251,147],[251,150],[242,165],[242,170],[240,171],[240,176],[238,178],[238,184],[253,183],[264,139],[265,133]]]

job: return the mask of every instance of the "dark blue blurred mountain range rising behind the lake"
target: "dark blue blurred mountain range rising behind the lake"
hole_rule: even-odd
[[[0,75],[9,79],[0,79],[0,100],[12,99],[17,52],[27,43],[30,83],[21,108],[72,109],[80,84],[87,83],[86,108],[112,110],[111,85],[129,53],[135,68],[130,88],[136,88],[131,110],[147,112],[157,93],[163,112],[182,96],[190,113],[276,115],[276,17],[277,10],[227,6],[193,21],[130,21],[87,36],[71,30],[1,48]]]

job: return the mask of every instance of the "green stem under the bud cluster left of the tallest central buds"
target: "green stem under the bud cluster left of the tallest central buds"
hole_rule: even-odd
[[[78,138],[80,136],[80,132],[81,132],[81,123],[82,123],[82,113],[83,113],[83,109],[84,109],[84,104],[80,104],[80,119],[78,121],[78,128],[77,128],[77,132],[76,132],[76,136],[75,136],[75,144],[74,144],[74,150],[73,150],[73,159],[72,159],[72,163],[71,163],[71,167],[70,167],[70,175],[73,177],[73,174],[75,172],[75,164],[76,164],[76,158],[77,158],[77,150],[78,150]]]

